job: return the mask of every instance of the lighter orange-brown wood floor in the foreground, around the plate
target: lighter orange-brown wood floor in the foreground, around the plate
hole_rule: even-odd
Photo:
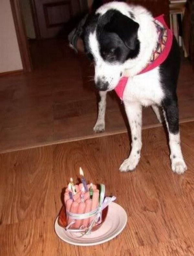
[[[162,127],[143,130],[141,160],[130,173],[118,171],[129,152],[127,133],[0,154],[0,255],[193,256],[194,122],[180,128],[184,175],[170,170]],[[80,166],[128,216],[119,236],[87,248],[54,232],[61,190]]]

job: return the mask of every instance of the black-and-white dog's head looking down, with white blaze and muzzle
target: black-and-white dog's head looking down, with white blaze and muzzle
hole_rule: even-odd
[[[83,40],[85,52],[94,62],[94,81],[98,90],[113,90],[123,74],[125,62],[138,55],[138,28],[133,13],[125,10],[123,14],[111,5],[101,6],[88,17]]]

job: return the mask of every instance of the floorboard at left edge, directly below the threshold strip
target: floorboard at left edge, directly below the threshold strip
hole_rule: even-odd
[[[1,223],[53,216],[52,148],[0,155]]]

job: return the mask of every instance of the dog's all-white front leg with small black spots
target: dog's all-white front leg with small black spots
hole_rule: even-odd
[[[125,111],[131,129],[131,152],[127,159],[120,166],[121,172],[132,171],[137,166],[140,159],[142,148],[141,129],[142,129],[142,106],[137,102],[124,102]]]

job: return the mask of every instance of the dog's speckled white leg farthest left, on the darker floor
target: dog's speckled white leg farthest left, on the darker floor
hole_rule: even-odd
[[[95,132],[103,132],[105,130],[106,94],[107,92],[99,91],[98,118],[93,128]]]

